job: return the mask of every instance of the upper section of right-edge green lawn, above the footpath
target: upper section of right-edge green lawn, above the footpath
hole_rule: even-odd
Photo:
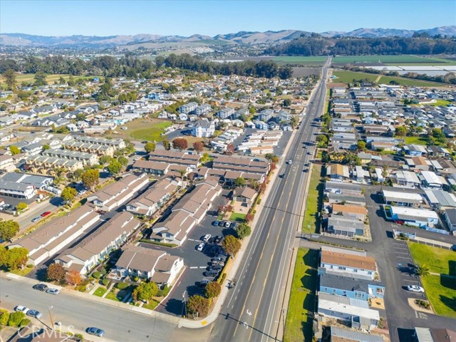
[[[410,242],[408,244],[413,260],[425,264],[431,272],[456,276],[456,253],[447,249]],[[450,269],[450,264],[452,264]]]

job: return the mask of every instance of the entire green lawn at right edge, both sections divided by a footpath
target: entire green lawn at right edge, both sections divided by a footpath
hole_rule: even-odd
[[[435,313],[456,318],[456,253],[413,242],[408,248],[416,264],[429,268],[421,280]]]

